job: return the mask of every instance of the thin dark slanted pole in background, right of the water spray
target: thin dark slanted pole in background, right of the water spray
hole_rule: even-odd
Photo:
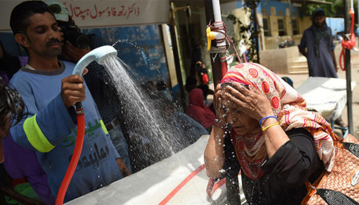
[[[179,93],[181,94],[180,100],[181,100],[181,104],[183,106],[183,111],[186,111],[186,97],[185,97],[185,90],[184,90],[183,80],[182,80],[181,64],[179,63],[179,53],[178,53],[178,47],[177,47],[177,30],[176,30],[176,20],[174,17],[173,2],[171,2],[171,8],[170,8],[170,33],[171,33],[171,40],[172,40],[174,65],[176,67],[177,81],[179,84]]]

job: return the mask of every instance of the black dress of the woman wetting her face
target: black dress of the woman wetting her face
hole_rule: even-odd
[[[260,179],[252,180],[242,172],[248,204],[301,204],[307,193],[304,182],[307,179],[314,182],[323,172],[323,162],[316,153],[312,135],[305,129],[292,129],[286,134],[290,140],[266,159],[261,168],[265,174]],[[225,152],[230,155],[224,166],[228,170],[226,176],[234,178],[240,163],[233,157],[233,145],[226,146]]]

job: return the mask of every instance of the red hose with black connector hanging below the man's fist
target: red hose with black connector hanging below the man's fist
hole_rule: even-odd
[[[76,113],[77,113],[77,137],[76,137],[75,149],[73,151],[69,168],[67,168],[63,182],[61,183],[60,189],[58,190],[56,203],[55,203],[56,205],[62,205],[64,203],[64,198],[67,188],[69,187],[72,175],[77,167],[78,159],[81,156],[82,146],[84,145],[85,114],[84,114],[84,109],[81,106],[81,103],[76,103]]]

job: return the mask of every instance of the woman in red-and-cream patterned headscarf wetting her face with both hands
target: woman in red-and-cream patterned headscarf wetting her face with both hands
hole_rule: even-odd
[[[336,141],[328,122],[261,65],[236,65],[221,83],[214,95],[218,119],[205,150],[207,175],[221,177],[226,158],[236,155],[249,204],[300,204],[305,181],[333,166]],[[228,137],[234,152],[225,156]]]

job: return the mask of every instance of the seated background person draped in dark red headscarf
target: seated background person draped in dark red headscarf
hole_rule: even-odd
[[[216,118],[211,109],[205,106],[203,91],[199,88],[195,88],[189,93],[186,114],[200,122],[207,130],[213,125]]]

